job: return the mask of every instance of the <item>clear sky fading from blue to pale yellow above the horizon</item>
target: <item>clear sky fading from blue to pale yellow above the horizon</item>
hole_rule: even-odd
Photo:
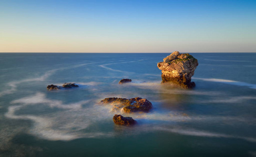
[[[256,52],[256,0],[0,1],[0,52]]]

